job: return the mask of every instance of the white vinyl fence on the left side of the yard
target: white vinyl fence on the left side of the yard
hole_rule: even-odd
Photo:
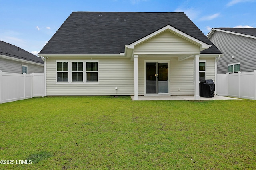
[[[0,71],[0,103],[44,96],[44,73],[15,74]]]

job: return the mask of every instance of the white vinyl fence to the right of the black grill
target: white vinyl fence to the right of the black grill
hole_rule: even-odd
[[[217,74],[217,95],[256,100],[256,70]]]

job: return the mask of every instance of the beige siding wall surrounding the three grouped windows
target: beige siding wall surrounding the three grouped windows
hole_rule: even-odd
[[[98,60],[98,83],[56,83],[56,60],[47,59],[47,95],[134,95],[134,63],[130,58],[93,58]],[[91,58],[68,59],[90,61]],[[65,59],[63,59],[65,61]],[[118,90],[115,90],[118,87]]]

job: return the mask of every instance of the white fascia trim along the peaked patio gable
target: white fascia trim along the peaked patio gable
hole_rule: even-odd
[[[152,38],[152,37],[154,37],[154,36],[164,32],[166,30],[170,31],[171,33],[174,33],[175,35],[178,35],[179,37],[182,37],[182,38],[190,41],[191,43],[194,43],[194,44],[200,46],[200,48],[202,50],[203,49],[207,49],[207,48],[209,48],[211,46],[211,45],[206,44],[206,43],[204,43],[204,42],[202,42],[202,41],[200,41],[200,40],[198,40],[198,39],[196,39],[194,37],[191,37],[190,35],[182,32],[182,31],[180,31],[180,30],[178,30],[178,29],[176,29],[176,28],[174,28],[174,27],[172,27],[170,25],[167,25],[167,26],[165,26],[165,27],[155,31],[154,33],[151,33],[150,35],[147,35],[146,37],[143,37],[142,39],[139,39],[138,41],[135,41],[134,43],[131,43],[130,45],[128,45],[128,48],[132,48],[133,49],[135,45],[143,43],[144,41],[147,41],[148,39],[150,39],[150,38]]]

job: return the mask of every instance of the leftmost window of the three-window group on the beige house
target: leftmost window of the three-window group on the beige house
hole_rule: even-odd
[[[57,82],[68,82],[68,62],[57,62]]]

